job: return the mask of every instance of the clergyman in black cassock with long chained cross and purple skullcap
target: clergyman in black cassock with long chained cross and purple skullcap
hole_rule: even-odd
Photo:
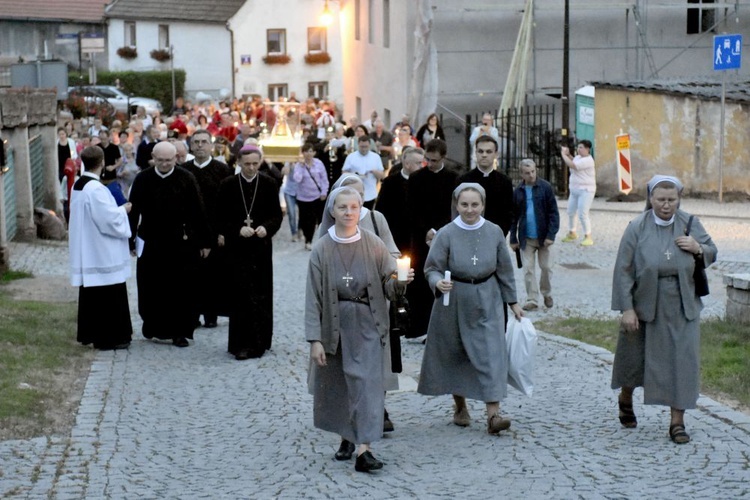
[[[219,232],[231,269],[228,351],[238,360],[259,358],[273,336],[273,246],[282,213],[276,183],[258,173],[256,146],[240,149],[240,173],[219,188]]]

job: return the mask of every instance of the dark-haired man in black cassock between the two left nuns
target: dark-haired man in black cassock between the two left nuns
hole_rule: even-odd
[[[425,146],[427,168],[409,176],[408,207],[411,220],[411,266],[414,281],[406,290],[411,306],[410,337],[427,333],[435,296],[424,276],[424,264],[437,231],[451,221],[451,199],[456,188],[455,172],[445,167],[445,141],[433,139]]]

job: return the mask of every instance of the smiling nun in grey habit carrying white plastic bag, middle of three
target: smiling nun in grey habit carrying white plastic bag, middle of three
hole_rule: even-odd
[[[466,398],[487,405],[487,432],[510,427],[500,416],[507,393],[508,363],[502,303],[517,319],[516,285],[508,245],[499,226],[482,217],[485,191],[463,183],[453,192],[458,216],[438,231],[425,262],[425,277],[434,291],[427,345],[418,391],[452,394],[453,423],[471,423]],[[445,272],[450,271],[450,280]],[[443,294],[450,293],[448,305]]]

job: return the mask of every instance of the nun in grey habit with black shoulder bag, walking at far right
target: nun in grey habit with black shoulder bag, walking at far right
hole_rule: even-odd
[[[638,425],[633,389],[643,387],[644,404],[671,408],[669,437],[677,444],[690,441],[684,414],[700,389],[703,303],[693,271],[717,254],[700,221],[679,209],[682,189],[675,177],[649,181],[646,211],[625,229],[612,281],[612,309],[622,312],[612,367],[612,388],[622,388],[620,423]]]

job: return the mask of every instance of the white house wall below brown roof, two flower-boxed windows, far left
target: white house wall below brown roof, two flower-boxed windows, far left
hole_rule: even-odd
[[[108,51],[112,71],[168,70],[170,62],[159,62],[150,53],[159,46],[159,25],[169,25],[169,43],[174,47],[174,67],[185,70],[185,93],[189,97],[205,92],[219,97],[232,88],[232,44],[224,25],[187,22],[135,21],[138,57],[132,60],[117,55],[125,45],[122,19],[110,19]]]

